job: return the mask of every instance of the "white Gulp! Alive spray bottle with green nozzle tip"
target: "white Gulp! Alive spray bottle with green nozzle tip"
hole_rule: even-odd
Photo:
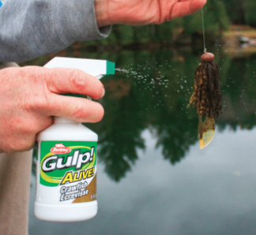
[[[115,74],[115,63],[104,60],[54,58],[46,68],[81,69],[101,78]],[[37,136],[36,217],[51,222],[78,222],[94,217],[98,136],[77,121],[54,117]]]

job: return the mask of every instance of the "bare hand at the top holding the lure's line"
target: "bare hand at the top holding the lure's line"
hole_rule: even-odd
[[[95,0],[98,27],[161,24],[198,11],[206,0]]]

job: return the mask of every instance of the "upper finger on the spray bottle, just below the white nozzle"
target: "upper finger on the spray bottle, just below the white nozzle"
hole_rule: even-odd
[[[48,73],[45,76],[47,88],[53,93],[89,95],[92,99],[100,99],[104,96],[104,86],[100,80],[80,69],[47,70]]]

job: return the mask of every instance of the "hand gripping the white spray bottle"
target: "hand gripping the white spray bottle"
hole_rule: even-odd
[[[0,152],[31,149],[36,133],[52,124],[51,116],[81,122],[100,121],[104,116],[100,103],[58,95],[104,96],[100,80],[78,69],[7,68],[0,70],[0,83]]]

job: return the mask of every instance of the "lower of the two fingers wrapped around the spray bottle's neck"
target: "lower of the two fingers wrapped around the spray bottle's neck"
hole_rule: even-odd
[[[103,106],[92,100],[52,94],[49,102],[43,110],[47,115],[79,122],[97,122],[104,116]]]

